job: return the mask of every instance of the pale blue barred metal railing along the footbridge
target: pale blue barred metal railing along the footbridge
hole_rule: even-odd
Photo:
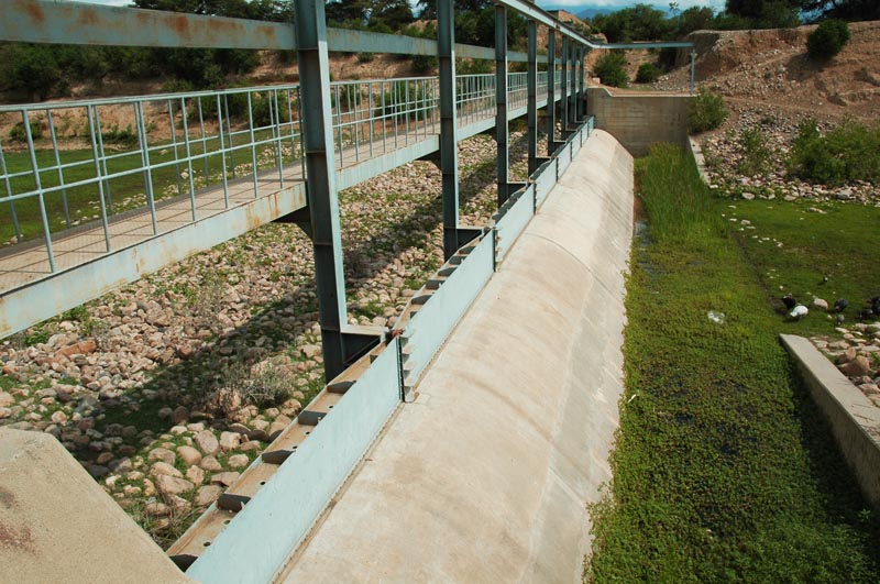
[[[509,74],[513,109],[526,106],[526,77]],[[540,96],[546,84],[539,73]],[[460,126],[494,117],[494,75],[462,75],[457,86]],[[342,169],[436,135],[438,79],[336,81],[331,109]],[[297,85],[8,106],[3,118],[18,122],[18,142],[0,137],[0,234],[7,246],[42,241],[51,273],[58,268],[53,239],[67,230],[100,222],[111,252],[130,241],[113,230],[123,214],[148,213],[146,229],[157,235],[229,209],[244,190],[255,198],[261,185],[305,179]],[[230,185],[245,183],[233,195]],[[216,197],[200,202],[207,191]],[[172,200],[188,200],[188,217],[163,222]]]

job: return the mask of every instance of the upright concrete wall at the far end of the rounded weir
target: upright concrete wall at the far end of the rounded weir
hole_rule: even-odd
[[[651,144],[688,144],[690,96],[618,92],[605,87],[586,90],[586,111],[632,155],[644,156]]]

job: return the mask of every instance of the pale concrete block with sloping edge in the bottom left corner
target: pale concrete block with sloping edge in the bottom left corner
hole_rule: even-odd
[[[0,582],[193,582],[52,436],[0,429]]]

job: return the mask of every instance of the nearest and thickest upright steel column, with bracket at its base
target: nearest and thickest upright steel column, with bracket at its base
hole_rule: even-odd
[[[294,14],[309,221],[315,247],[315,280],[318,287],[323,367],[329,382],[353,357],[375,344],[378,335],[345,330],[351,328],[348,327],[342,271],[323,2],[295,0]]]

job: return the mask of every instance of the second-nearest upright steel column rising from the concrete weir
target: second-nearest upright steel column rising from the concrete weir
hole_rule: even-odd
[[[459,249],[459,152],[455,120],[455,30],[452,0],[437,0],[440,76],[440,173],[443,184],[443,256]]]

